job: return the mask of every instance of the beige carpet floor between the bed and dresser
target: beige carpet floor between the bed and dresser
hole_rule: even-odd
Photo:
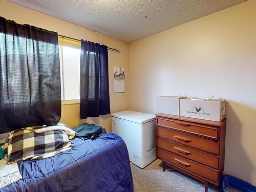
[[[204,184],[175,169],[165,166],[162,161],[155,160],[145,168],[131,163],[135,192],[204,192]],[[221,189],[209,183],[209,192],[220,192]]]

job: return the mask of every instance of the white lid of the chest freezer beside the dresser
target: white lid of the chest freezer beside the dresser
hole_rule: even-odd
[[[125,119],[128,121],[133,121],[140,124],[150,122],[156,119],[155,115],[136,112],[136,111],[122,111],[122,112],[112,113],[111,116],[120,118],[120,119]]]

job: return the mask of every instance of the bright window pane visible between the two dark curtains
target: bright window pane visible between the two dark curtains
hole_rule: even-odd
[[[59,38],[61,100],[80,99],[80,46],[70,41]]]

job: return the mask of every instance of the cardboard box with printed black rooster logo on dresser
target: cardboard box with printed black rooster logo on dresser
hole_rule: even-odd
[[[222,121],[226,112],[226,100],[180,99],[180,116],[210,121]]]

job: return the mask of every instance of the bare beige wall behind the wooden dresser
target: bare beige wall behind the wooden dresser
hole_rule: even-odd
[[[225,98],[225,174],[256,185],[256,1],[130,45],[130,109],[155,113],[156,96]]]

